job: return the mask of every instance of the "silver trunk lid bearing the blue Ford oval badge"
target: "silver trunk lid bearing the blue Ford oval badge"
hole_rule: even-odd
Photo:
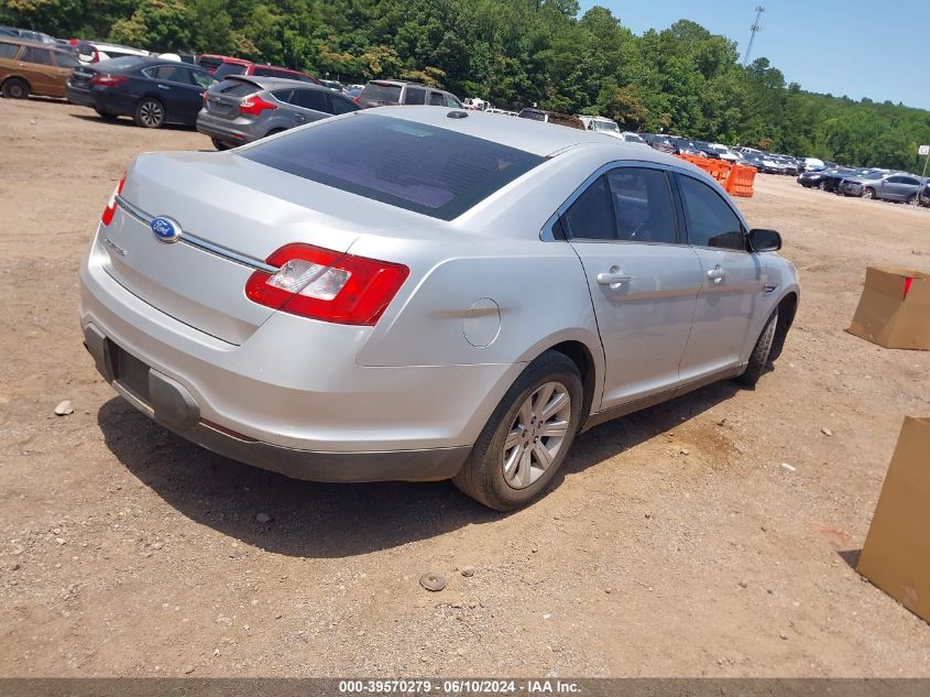
[[[105,268],[165,314],[239,345],[274,313],[245,296],[272,252],[293,242],[344,252],[372,231],[379,204],[347,196],[233,153],[141,155],[100,227]],[[179,239],[160,240],[155,218],[169,219]]]

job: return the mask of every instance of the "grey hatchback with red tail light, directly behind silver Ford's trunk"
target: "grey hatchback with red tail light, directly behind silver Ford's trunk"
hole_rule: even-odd
[[[197,130],[209,135],[217,150],[227,150],[360,108],[322,85],[231,76],[204,95]]]

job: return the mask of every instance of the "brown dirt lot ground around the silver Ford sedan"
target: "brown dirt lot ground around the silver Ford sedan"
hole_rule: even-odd
[[[930,353],[844,331],[866,263],[930,270],[930,210],[761,177],[740,206],[803,284],[776,370],[598,427],[503,515],[238,465],[97,377],[77,266],[103,204],[134,153],[208,148],[0,100],[1,675],[930,676],[930,627],[851,568]]]

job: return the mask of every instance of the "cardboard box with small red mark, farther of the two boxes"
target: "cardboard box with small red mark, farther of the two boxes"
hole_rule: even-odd
[[[850,334],[885,348],[930,350],[930,274],[868,266]]]

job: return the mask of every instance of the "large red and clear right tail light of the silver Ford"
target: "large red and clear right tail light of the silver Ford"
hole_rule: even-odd
[[[267,263],[274,273],[255,271],[245,296],[282,312],[344,325],[374,325],[411,270],[310,244],[287,244]]]

